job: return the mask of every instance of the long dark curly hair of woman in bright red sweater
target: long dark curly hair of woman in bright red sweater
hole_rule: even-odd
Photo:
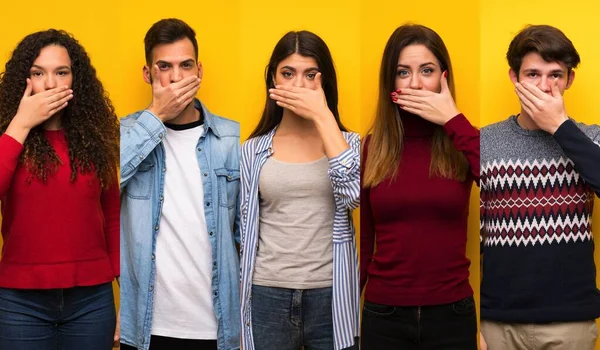
[[[78,173],[95,172],[101,187],[107,188],[117,177],[118,118],[88,54],[69,33],[49,29],[30,34],[17,45],[5,71],[0,73],[0,134],[17,113],[33,62],[49,45],[64,47],[71,59],[73,98],[63,109],[60,120],[69,145],[71,182]],[[20,164],[28,170],[28,181],[38,178],[43,182],[61,164],[41,125],[29,133]]]

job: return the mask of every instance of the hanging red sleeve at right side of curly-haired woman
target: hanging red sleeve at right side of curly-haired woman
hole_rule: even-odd
[[[115,176],[111,187],[102,191],[102,212],[104,214],[104,236],[106,239],[106,249],[115,277],[120,276],[120,220],[119,220],[119,187]]]

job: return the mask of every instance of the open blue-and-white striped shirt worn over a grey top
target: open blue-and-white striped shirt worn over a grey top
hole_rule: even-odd
[[[273,135],[249,139],[242,145],[241,155],[241,209],[242,244],[240,279],[242,287],[241,318],[242,348],[254,350],[252,336],[252,274],[256,261],[259,235],[258,180],[268,157],[273,154]],[[335,350],[354,345],[358,336],[360,289],[358,256],[354,239],[352,210],[360,202],[360,138],[356,133],[344,132],[350,148],[329,159],[328,175],[335,197],[333,222],[333,336]]]

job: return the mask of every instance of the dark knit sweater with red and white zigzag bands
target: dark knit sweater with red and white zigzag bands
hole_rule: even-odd
[[[511,323],[600,316],[592,212],[600,127],[550,135],[515,116],[481,130],[481,318]]]

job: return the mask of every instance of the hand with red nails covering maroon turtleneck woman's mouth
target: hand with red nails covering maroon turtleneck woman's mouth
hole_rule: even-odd
[[[440,93],[403,88],[392,92],[392,101],[407,112],[432,123],[444,125],[460,113],[448,88],[447,74],[448,72],[445,71],[440,78],[442,86]]]

